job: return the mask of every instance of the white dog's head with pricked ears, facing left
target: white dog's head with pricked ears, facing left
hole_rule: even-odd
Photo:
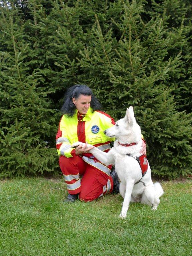
[[[141,139],[141,129],[134,116],[133,107],[127,108],[125,117],[118,120],[113,127],[105,130],[108,137],[116,137],[122,141],[138,142]]]

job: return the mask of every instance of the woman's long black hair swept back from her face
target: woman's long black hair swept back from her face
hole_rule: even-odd
[[[64,104],[61,108],[63,114],[67,114],[68,116],[72,117],[75,113],[75,105],[72,101],[72,98],[78,99],[80,95],[91,95],[91,108],[93,112],[95,110],[101,110],[102,106],[97,100],[97,98],[93,95],[92,90],[87,85],[74,85],[68,88],[67,93],[64,97]]]

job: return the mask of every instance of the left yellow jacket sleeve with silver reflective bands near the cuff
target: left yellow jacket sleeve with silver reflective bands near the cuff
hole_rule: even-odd
[[[59,122],[59,129],[56,135],[56,148],[59,156],[75,156],[75,149],[71,147],[63,118]]]

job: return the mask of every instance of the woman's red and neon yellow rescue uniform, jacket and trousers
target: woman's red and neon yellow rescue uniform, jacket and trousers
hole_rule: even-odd
[[[92,154],[75,155],[71,144],[88,142],[107,152],[111,141],[103,131],[115,124],[114,119],[101,111],[89,108],[85,115],[75,111],[73,117],[63,115],[56,135],[59,165],[64,175],[69,194],[78,194],[84,201],[92,201],[113,190],[113,180],[109,176],[111,166],[100,163]],[[83,175],[81,181],[80,176]]]

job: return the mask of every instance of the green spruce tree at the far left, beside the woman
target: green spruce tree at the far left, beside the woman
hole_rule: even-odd
[[[33,51],[26,43],[18,10],[1,9],[0,177],[54,171],[56,152],[49,147],[55,121],[41,75],[30,68]],[[56,132],[56,129],[55,129]]]

